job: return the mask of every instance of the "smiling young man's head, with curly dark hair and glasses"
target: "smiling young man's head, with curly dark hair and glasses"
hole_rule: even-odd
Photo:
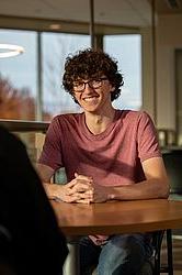
[[[103,77],[106,79],[98,87],[98,79]],[[123,84],[117,62],[101,50],[87,48],[66,58],[62,86],[84,110],[106,102],[110,106],[121,95]]]

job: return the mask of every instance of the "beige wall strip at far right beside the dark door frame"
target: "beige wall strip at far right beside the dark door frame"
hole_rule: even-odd
[[[174,50],[182,48],[182,15],[161,15],[157,24],[157,127],[175,130]]]

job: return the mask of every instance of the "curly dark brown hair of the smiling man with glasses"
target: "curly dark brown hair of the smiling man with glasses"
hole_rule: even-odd
[[[117,62],[101,50],[87,48],[66,58],[62,86],[75,99],[73,81],[78,78],[99,78],[103,75],[115,87],[115,90],[111,94],[111,100],[113,101],[118,98],[121,87],[124,85],[123,75],[117,69]],[[76,99],[75,101],[77,102]]]

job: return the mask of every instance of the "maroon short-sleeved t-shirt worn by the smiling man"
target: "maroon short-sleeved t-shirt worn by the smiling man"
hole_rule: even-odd
[[[144,111],[116,110],[114,121],[96,135],[87,128],[84,113],[55,117],[38,162],[55,170],[65,167],[68,182],[77,172],[99,185],[120,186],[144,180],[141,163],[158,156],[150,117]]]

